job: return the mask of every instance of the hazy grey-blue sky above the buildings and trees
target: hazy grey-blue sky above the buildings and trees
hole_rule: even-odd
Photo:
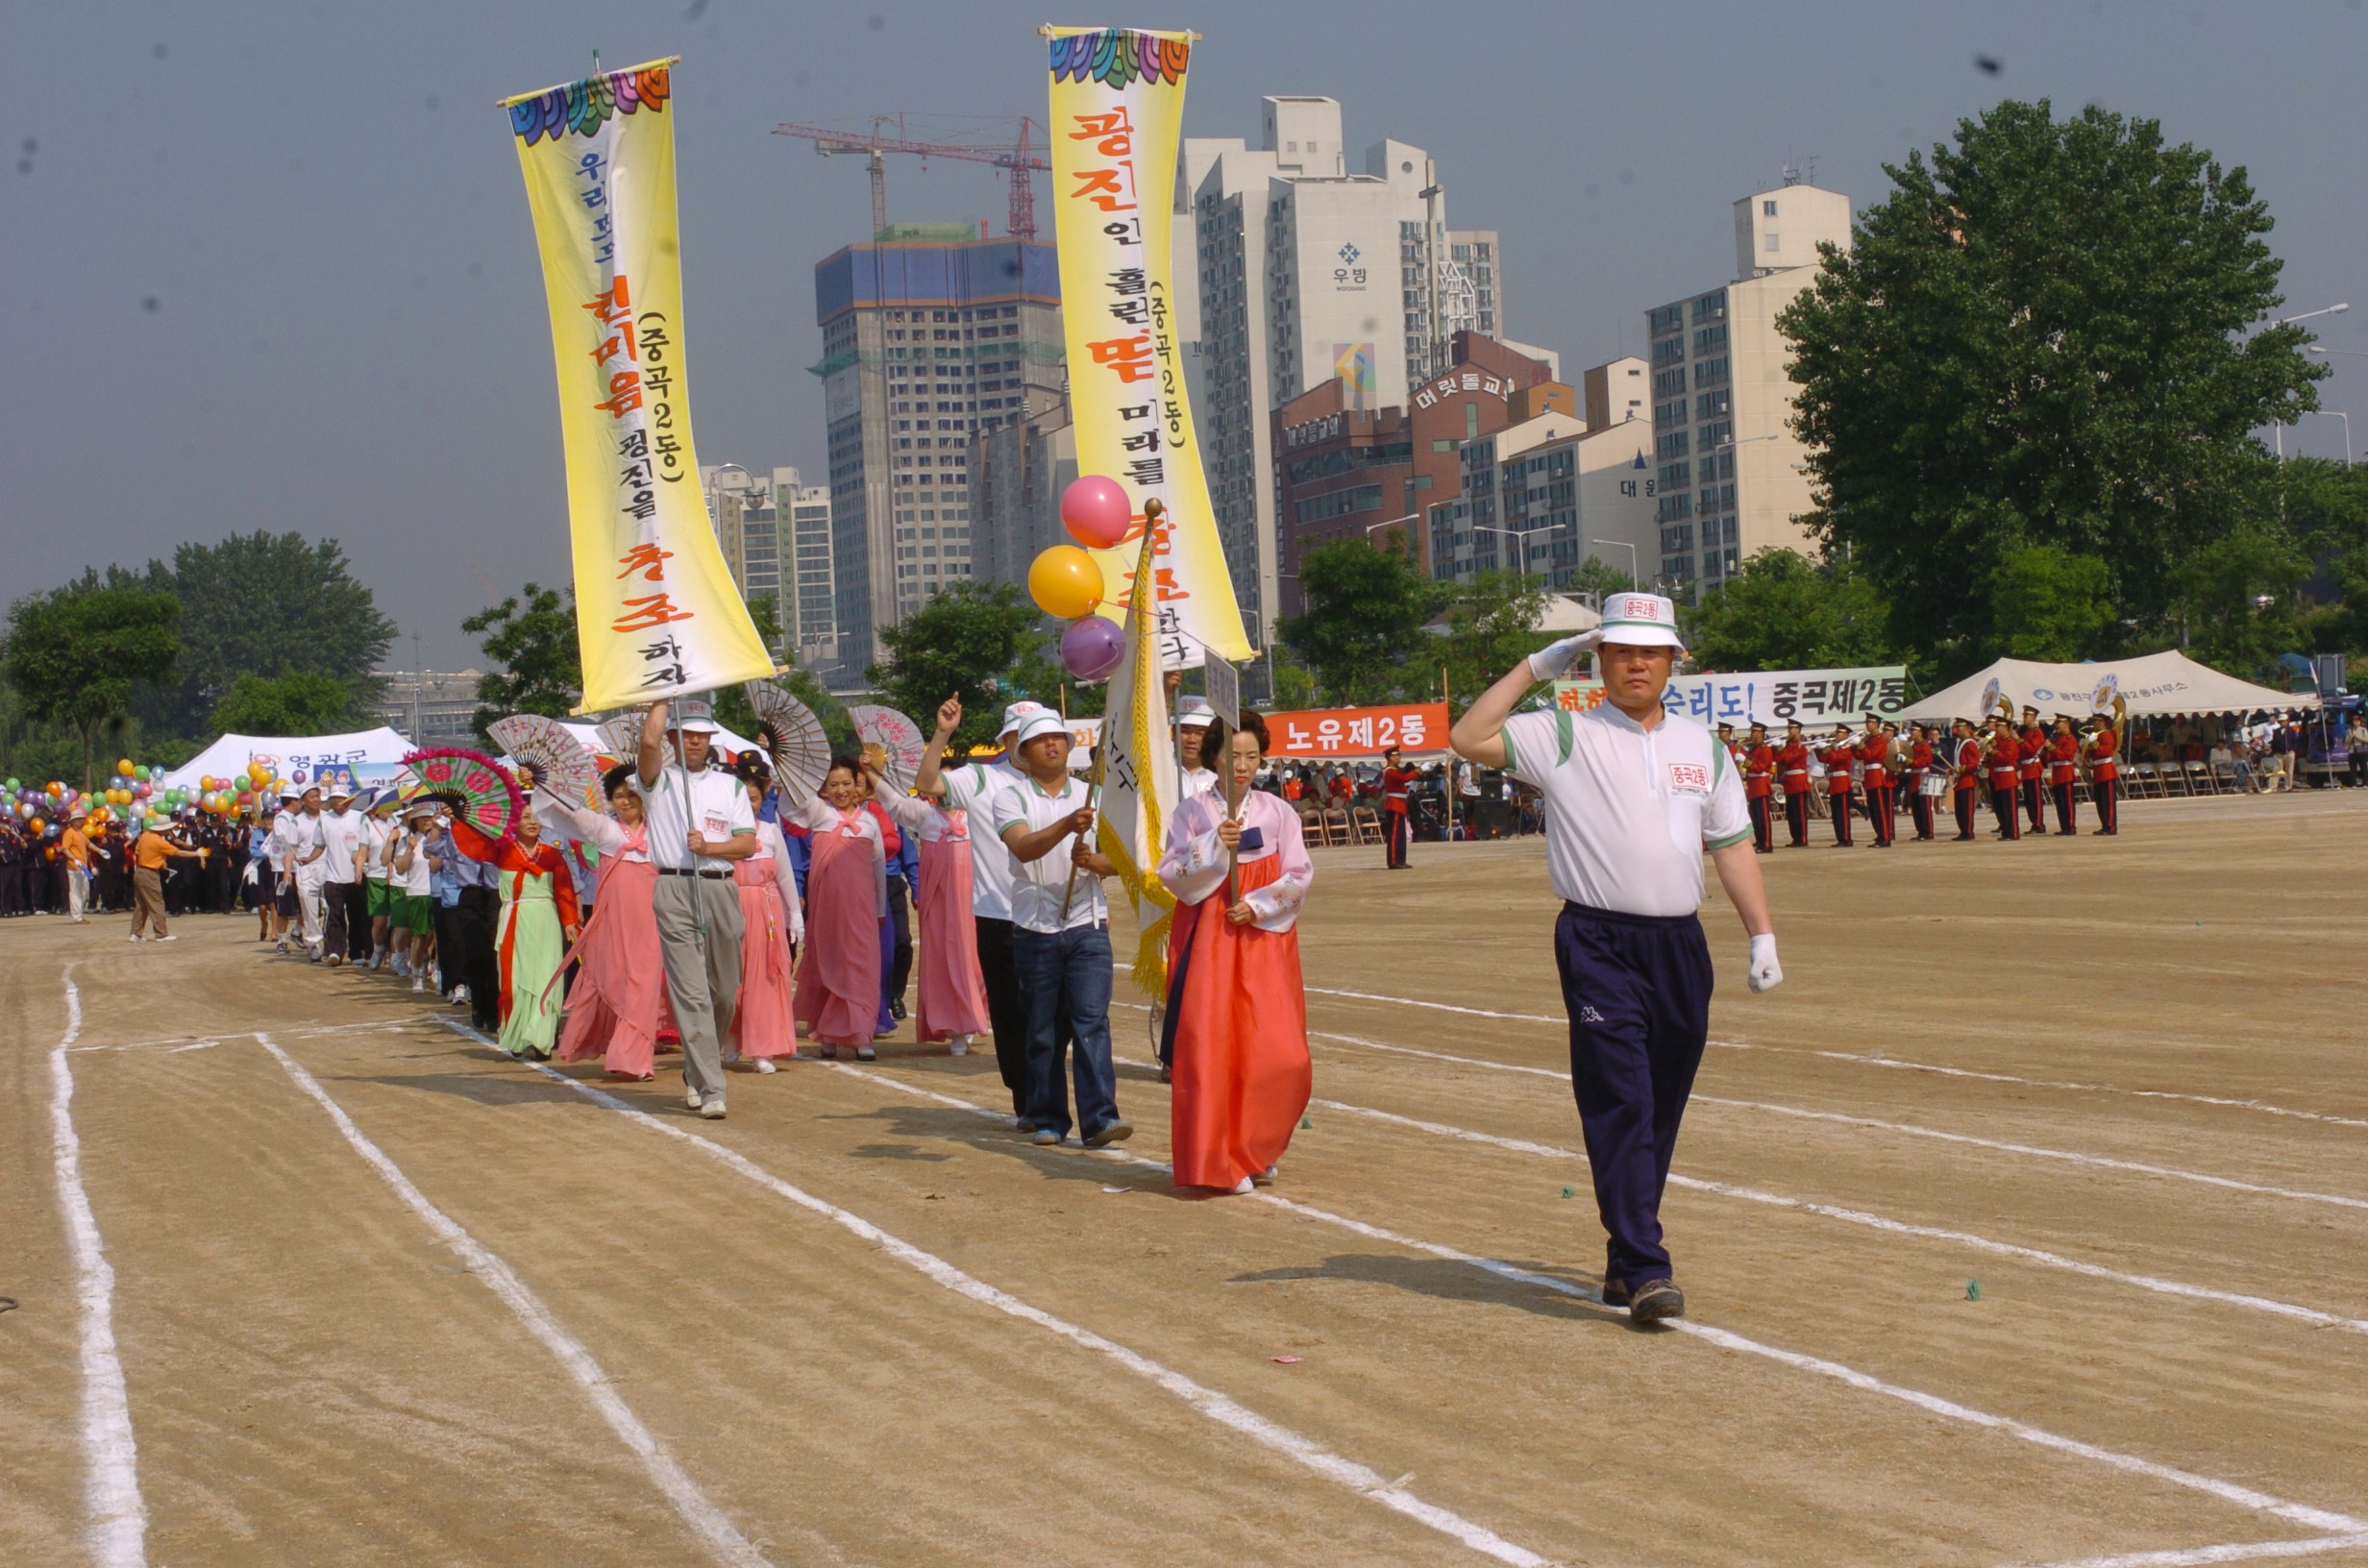
[[[0,599],[85,564],[272,528],[346,542],[398,661],[568,571],[549,329],[495,99],[682,54],[689,405],[703,462],[822,478],[812,265],[869,227],[860,159],[779,121],[1044,116],[1035,26],[1191,26],[1189,135],[1257,137],[1267,92],[1345,104],[1354,152],[1428,147],[1449,220],[1506,249],[1506,327],[1565,369],[1724,282],[1729,204],[1790,159],[1861,208],[1880,166],[1999,97],[2098,102],[2252,171],[2290,310],[2368,351],[2361,0],[2321,5],[1238,5],[995,0],[9,0]],[[1996,73],[1975,59],[1989,57]],[[2344,130],[2351,126],[2354,130]],[[1037,185],[1044,199],[1042,178]],[[893,159],[897,220],[987,218],[990,168]],[[2368,358],[2335,358],[2356,407]],[[2304,419],[2287,450],[2340,455]]]

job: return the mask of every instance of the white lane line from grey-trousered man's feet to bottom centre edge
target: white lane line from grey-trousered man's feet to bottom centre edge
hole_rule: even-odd
[[[457,1035],[466,1035],[466,1037],[478,1040],[483,1045],[493,1045],[490,1040],[485,1040],[485,1035],[481,1035],[474,1028],[466,1028],[462,1023],[452,1023],[450,1018],[438,1018],[438,1023],[443,1023],[445,1028],[450,1028]],[[500,1049],[500,1047],[495,1047],[495,1049]],[[1047,1329],[1051,1334],[1058,1334],[1061,1338],[1066,1338],[1066,1341],[1070,1341],[1070,1343],[1075,1343],[1075,1345],[1080,1345],[1085,1350],[1096,1350],[1096,1352],[1111,1357],[1113,1362],[1118,1362],[1127,1371],[1132,1371],[1132,1374],[1137,1374],[1141,1379],[1148,1379],[1151,1383],[1156,1383],[1156,1386],[1165,1388],[1167,1393],[1172,1393],[1175,1397],[1184,1400],[1189,1407],[1193,1407],[1196,1412],[1201,1412],[1210,1421],[1215,1421],[1220,1426],[1227,1426],[1227,1428],[1231,1428],[1231,1431],[1250,1438],[1253,1442],[1260,1442],[1262,1447],[1269,1447],[1276,1454],[1283,1454],[1286,1459],[1293,1459],[1293,1461],[1307,1466],[1310,1471],[1314,1471],[1324,1480],[1338,1483],[1338,1485],[1343,1485],[1343,1487],[1347,1487],[1352,1492],[1362,1492],[1364,1497],[1371,1497],[1373,1502],[1378,1502],[1378,1504],[1383,1504],[1383,1506],[1388,1506],[1388,1509],[1392,1509],[1392,1511],[1397,1511],[1397,1514],[1402,1514],[1402,1516],[1407,1516],[1407,1518],[1411,1518],[1416,1523],[1430,1525],[1440,1535],[1447,1535],[1449,1540],[1454,1540],[1454,1542],[1459,1542],[1463,1547],[1471,1547],[1480,1556],[1497,1559],[1499,1563],[1513,1563],[1516,1568],[1553,1568],[1551,1559],[1544,1559],[1537,1551],[1530,1551],[1527,1547],[1516,1547],[1513,1542],[1504,1540],[1501,1535],[1497,1535],[1494,1530],[1489,1530],[1485,1525],[1475,1525],[1473,1521],[1468,1521],[1468,1518],[1463,1518],[1459,1514],[1452,1514],[1452,1511],[1447,1511],[1447,1509],[1442,1509],[1437,1504],[1423,1502],[1414,1492],[1404,1490],[1399,1483],[1383,1478],[1381,1471],[1373,1471],[1373,1469],[1369,1469],[1364,1464],[1357,1464],[1354,1459],[1343,1459],[1340,1454],[1331,1452],[1328,1447],[1324,1447],[1314,1438],[1302,1438],[1300,1433],[1291,1431],[1288,1426],[1281,1426],[1279,1421],[1269,1421],[1267,1416],[1260,1416],[1257,1412],[1253,1412],[1253,1409],[1234,1402],[1229,1395],[1222,1395],[1215,1388],[1196,1383],[1189,1376],[1184,1376],[1182,1371],[1172,1371],[1172,1369],[1163,1367],[1160,1362],[1153,1362],[1148,1355],[1141,1355],[1139,1350],[1130,1350],[1127,1345],[1120,1345],[1118,1341],[1103,1338],[1101,1334],[1094,1334],[1092,1329],[1082,1329],[1082,1326],[1077,1326],[1077,1324],[1073,1324],[1073,1322],[1068,1322],[1063,1317],[1054,1317],[1051,1312],[1047,1312],[1042,1307],[1035,1307],[1035,1305],[1021,1300],[1018,1296],[1011,1296],[1009,1291],[1002,1291],[1002,1289],[997,1289],[997,1286],[978,1279],[976,1274],[966,1274],[964,1270],[954,1267],[945,1258],[938,1258],[935,1253],[928,1253],[928,1251],[914,1246],[912,1241],[893,1236],[893,1234],[883,1232],[879,1225],[871,1225],[862,1215],[848,1213],[845,1208],[838,1208],[836,1203],[829,1203],[826,1199],[817,1199],[815,1194],[805,1191],[803,1187],[796,1187],[796,1184],[791,1184],[791,1182],[772,1175],[762,1165],[748,1161],[746,1156],[736,1153],[734,1149],[727,1149],[725,1144],[718,1144],[710,1137],[701,1137],[701,1135],[689,1132],[684,1127],[675,1127],[675,1125],[670,1125],[670,1123],[651,1116],[649,1111],[635,1106],[632,1101],[618,1099],[616,1094],[609,1094],[606,1090],[594,1090],[587,1082],[578,1082],[575,1078],[568,1078],[566,1073],[561,1073],[561,1071],[556,1071],[556,1068],[552,1068],[547,1063],[528,1061],[523,1066],[535,1068],[545,1078],[564,1082],[566,1087],[575,1090],[578,1094],[583,1094],[585,1099],[594,1101],[597,1106],[601,1106],[606,1111],[620,1111],[623,1116],[632,1118],[635,1125],[642,1125],[642,1127],[649,1127],[651,1132],[663,1132],[665,1137],[675,1137],[675,1139],[682,1139],[682,1142],[691,1144],[694,1149],[699,1149],[708,1158],[718,1161],[725,1170],[729,1170],[729,1172],[734,1172],[739,1177],[746,1177],[746,1180],[755,1182],[758,1187],[765,1187],[774,1196],[789,1199],[791,1203],[796,1203],[796,1206],[800,1206],[805,1210],[812,1210],[812,1213],[822,1215],[824,1220],[831,1220],[841,1229],[845,1229],[845,1232],[850,1232],[850,1234],[869,1241],[871,1246],[881,1248],[883,1253],[888,1253],[890,1258],[895,1258],[905,1267],[909,1267],[909,1270],[928,1277],[931,1281],[945,1286],[947,1291],[954,1291],[957,1296],[969,1296],[971,1300],[990,1305],[997,1312],[1004,1312],[1004,1315],[1016,1317],[1021,1322],[1028,1322],[1028,1324],[1035,1324],[1035,1326]],[[826,1063],[826,1066],[838,1066],[838,1063]],[[860,1075],[862,1078],[871,1078],[871,1073],[860,1073]],[[971,1106],[969,1101],[957,1101],[957,1104],[964,1104],[964,1108],[983,1111],[985,1116],[992,1116],[992,1111],[985,1111],[983,1106]]]

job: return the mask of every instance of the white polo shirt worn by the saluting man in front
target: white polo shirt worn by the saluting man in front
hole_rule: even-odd
[[[1506,772],[1546,803],[1553,893],[1622,914],[1703,907],[1703,850],[1752,834],[1743,779],[1700,722],[1662,711],[1646,730],[1603,703],[1587,713],[1516,713]]]

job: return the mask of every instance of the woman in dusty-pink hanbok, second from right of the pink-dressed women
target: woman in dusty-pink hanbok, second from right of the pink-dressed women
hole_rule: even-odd
[[[881,1014],[881,919],[888,914],[881,824],[864,810],[871,770],[855,758],[831,758],[822,796],[781,779],[779,798],[781,820],[807,829],[812,855],[805,867],[805,962],[793,992],[798,1026],[824,1059],[852,1045],[857,1059],[871,1061]],[[781,862],[789,865],[786,850]]]

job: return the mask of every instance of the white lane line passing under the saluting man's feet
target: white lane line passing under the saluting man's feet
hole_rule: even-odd
[[[973,1111],[973,1113],[992,1118],[992,1120],[1004,1120],[997,1111],[990,1111],[987,1106],[980,1106],[980,1104],[973,1104],[973,1101],[966,1101],[966,1099],[954,1099],[952,1094],[938,1094],[933,1090],[914,1090],[909,1085],[897,1082],[895,1078],[886,1078],[881,1073],[867,1073],[862,1068],[848,1068],[843,1063],[831,1063],[831,1066],[838,1066],[843,1073],[850,1073],[855,1078],[867,1078],[871,1082],[881,1082],[881,1085],[888,1085],[893,1090],[905,1090],[907,1094],[916,1094],[921,1099],[935,1099],[935,1101],[942,1101],[942,1104],[950,1104],[950,1106],[961,1106],[964,1111]],[[583,1087],[583,1085],[578,1085],[578,1087]],[[1141,1165],[1151,1165],[1156,1170],[1167,1170],[1167,1165],[1163,1165],[1160,1161],[1146,1158],[1146,1156],[1122,1156],[1122,1158],[1141,1163]],[[1435,1241],[1418,1241],[1416,1236],[1402,1236],[1397,1232],[1381,1229],[1378,1225],[1366,1225],[1364,1220],[1350,1220],[1347,1215],[1336,1215],[1336,1213],[1331,1213],[1326,1208],[1314,1208],[1312,1203],[1298,1203],[1293,1199],[1276,1196],[1274,1191],[1257,1191],[1253,1196],[1257,1201],[1262,1201],[1262,1203],[1274,1206],[1274,1208],[1291,1210],[1291,1213],[1305,1215],[1310,1220],[1321,1220],[1324,1225],[1336,1225],[1336,1227],[1340,1227],[1345,1232],[1352,1232],[1357,1236],[1369,1236],[1373,1241],[1388,1241],[1390,1246],[1402,1246],[1402,1248],[1409,1248],[1409,1251],[1416,1251],[1416,1253],[1428,1253],[1433,1258],[1444,1258],[1449,1262],[1461,1262],[1461,1265],[1482,1270],[1487,1274],[1494,1274],[1499,1279],[1508,1279],[1513,1284],[1527,1284],[1527,1286],[1537,1286],[1537,1289],[1544,1289],[1544,1291],[1553,1291],[1556,1296],[1570,1296],[1575,1300],[1603,1305],[1603,1296],[1601,1293],[1596,1293],[1596,1291],[1591,1291],[1587,1286],[1570,1284],[1568,1279],[1556,1279],[1553,1274],[1534,1274],[1530,1270],[1523,1270],[1523,1267],[1511,1265],[1511,1262],[1501,1262],[1497,1258],[1480,1258],[1475,1253],[1466,1253],[1466,1251],[1459,1251],[1459,1248],[1452,1248],[1452,1246],[1440,1246]],[[1987,1428],[1987,1431],[2006,1433],[2010,1438],[2020,1438],[2022,1442],[2029,1442],[2029,1445],[2036,1445],[2036,1447],[2046,1447],[2046,1450],[2055,1450],[2060,1454],[2074,1454],[2079,1459],[2093,1459],[2098,1464],[2108,1464],[2108,1466],[2112,1466],[2117,1471],[2126,1471],[2131,1476],[2145,1476],[2150,1480],[2162,1480],[2162,1483],[2169,1483],[2169,1485],[2176,1485],[2176,1487],[2186,1487],[2190,1492],[2205,1492],[2209,1497],[2219,1497],[2221,1502],[2231,1502],[2231,1504],[2235,1504],[2240,1509],[2250,1509],[2254,1514],[2269,1514],[2273,1518],[2285,1518],[2285,1521],[2292,1521],[2292,1523],[2299,1523],[2299,1525],[2309,1525],[2314,1530],[2368,1532],[2368,1521],[2351,1518],[2349,1514],[2332,1514],[2328,1509],[2314,1509],[2309,1504],[2287,1502],[2285,1497],[2271,1497],[2269,1492],[2257,1492],[2252,1487],[2235,1485],[2233,1480],[2219,1480],[2216,1476],[2198,1476],[2195,1471],[2181,1471],[2181,1469],[2169,1466],[2169,1464],[2155,1464],[2153,1459],[2138,1459],[2136,1454],[2122,1454],[2122,1452],[2115,1452],[2110,1447],[2098,1447],[2093,1442],[2081,1442],[2079,1438],[2065,1438],[2060,1433],[2051,1433],[2051,1431],[2032,1426],[2027,1421],[2015,1421],[2013,1416],[1994,1416],[1994,1414],[1989,1414],[1984,1409],[1973,1409],[1970,1405],[1958,1405],[1956,1400],[1944,1400],[1939,1395],[1923,1393],[1920,1388],[1904,1388],[1899,1383],[1885,1383],[1883,1379],[1878,1379],[1873,1374],[1866,1374],[1866,1371],[1859,1371],[1857,1367],[1842,1367],[1840,1362],[1828,1362],[1828,1360],[1821,1360],[1821,1357],[1814,1357],[1814,1355],[1802,1355],[1797,1350],[1783,1350],[1778,1345],[1762,1345],[1759,1341],[1745,1338],[1740,1334],[1731,1334],[1729,1329],[1712,1329],[1707,1324],[1698,1324],[1698,1322],[1691,1322],[1691,1319],[1684,1319],[1684,1317],[1667,1319],[1667,1326],[1677,1329],[1679,1334],[1691,1334],[1695,1338],[1703,1338],[1703,1341],[1707,1341],[1712,1345],[1719,1345],[1724,1350],[1743,1350],[1745,1355],[1759,1355],[1759,1357],[1767,1357],[1767,1360],[1778,1362],[1783,1367],[1793,1367],[1797,1371],[1812,1371],[1816,1376],[1833,1379],[1838,1383],[1847,1383],[1849,1388],[1859,1388],[1864,1393],[1878,1393],[1878,1395],[1885,1395],[1885,1397],[1892,1397],[1892,1400],[1902,1400],[1902,1402],[1913,1405],[1913,1407],[1918,1407],[1923,1412],[1930,1412],[1935,1416],[1944,1416],[1944,1419],[1951,1419],[1951,1421],[1965,1421],[1968,1426],[1980,1426],[1980,1428]]]

